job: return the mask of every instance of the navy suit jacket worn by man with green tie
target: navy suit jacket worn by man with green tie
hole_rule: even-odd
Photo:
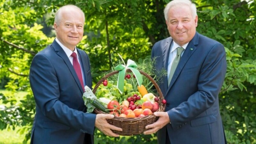
[[[167,70],[172,38],[158,41],[152,49],[156,69]],[[225,135],[219,110],[219,92],[227,69],[222,44],[196,32],[174,72],[159,87],[167,101],[165,111],[171,124],[157,132],[165,143],[166,129],[172,144],[222,144]]]

